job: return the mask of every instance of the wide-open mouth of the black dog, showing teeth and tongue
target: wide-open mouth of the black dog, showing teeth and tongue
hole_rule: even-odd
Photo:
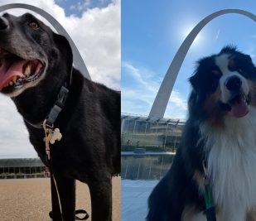
[[[0,90],[7,92],[19,89],[38,79],[44,72],[45,65],[40,60],[25,60],[0,48]]]

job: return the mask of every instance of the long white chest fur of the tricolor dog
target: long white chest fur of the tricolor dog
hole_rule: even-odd
[[[207,170],[218,221],[246,220],[256,206],[256,109],[249,107],[244,118],[226,116],[222,130],[205,123],[201,135],[209,151]]]

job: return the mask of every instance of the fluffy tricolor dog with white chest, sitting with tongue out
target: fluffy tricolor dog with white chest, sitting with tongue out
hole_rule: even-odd
[[[199,60],[190,82],[181,145],[148,199],[147,221],[205,221],[205,175],[218,221],[255,221],[255,66],[226,46]]]

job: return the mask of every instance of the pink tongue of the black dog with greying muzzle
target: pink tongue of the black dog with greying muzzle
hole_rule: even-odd
[[[7,60],[0,60],[0,90],[9,83],[14,76],[22,77],[22,67],[26,60],[17,60],[9,64]]]

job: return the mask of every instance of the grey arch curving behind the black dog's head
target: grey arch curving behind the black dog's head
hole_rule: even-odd
[[[72,48],[73,56],[74,56],[75,68],[80,70],[81,73],[84,74],[85,78],[90,79],[89,72],[85,66],[85,62],[82,59],[79,50],[75,46],[74,41],[71,39],[69,34],[65,31],[63,26],[61,26],[60,23],[57,22],[57,20],[54,17],[52,17],[49,13],[45,12],[44,10],[42,10],[39,7],[35,7],[35,6],[28,5],[28,4],[23,4],[23,3],[12,3],[12,4],[2,5],[2,6],[0,6],[0,12],[5,11],[7,9],[12,9],[12,8],[25,8],[25,9],[31,10],[33,12],[36,12],[36,13],[40,14],[42,17],[46,18],[46,20],[48,22],[50,22],[52,26],[54,26],[56,31],[60,35],[65,36],[66,39],[70,42],[70,46]]]

